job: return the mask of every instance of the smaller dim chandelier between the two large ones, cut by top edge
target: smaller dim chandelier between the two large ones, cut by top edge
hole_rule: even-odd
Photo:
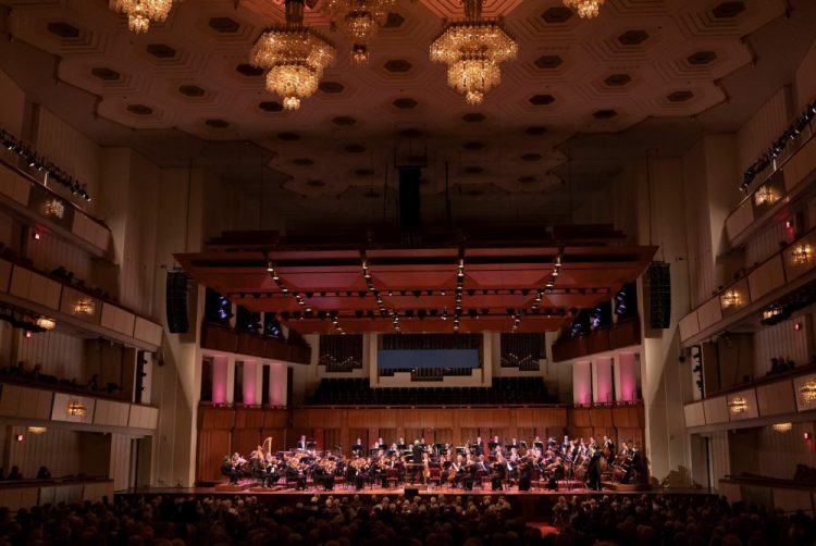
[[[351,38],[351,61],[364,64],[369,60],[369,41],[379,26],[388,18],[388,8],[395,0],[327,0],[325,13]]]

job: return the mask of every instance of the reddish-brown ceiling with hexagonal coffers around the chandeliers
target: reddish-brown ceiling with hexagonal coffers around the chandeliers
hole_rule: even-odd
[[[425,195],[447,178],[472,197],[564,196],[572,176],[586,183],[570,188],[580,199],[623,157],[677,154],[704,131],[737,128],[790,80],[816,36],[806,0],[608,0],[590,21],[560,0],[486,0],[519,58],[469,107],[429,61],[458,0],[397,1],[362,67],[318,2],[307,24],[338,59],[320,91],[288,112],[248,64],[261,30],[283,20],[277,2],[189,0],[146,35],[102,0],[0,3],[15,39],[0,63],[44,104],[101,144],[160,164],[208,162],[236,184],[257,182],[246,167],[260,157],[279,200],[363,198],[394,185],[395,162],[417,160],[428,164]],[[228,151],[243,140],[263,152]]]

